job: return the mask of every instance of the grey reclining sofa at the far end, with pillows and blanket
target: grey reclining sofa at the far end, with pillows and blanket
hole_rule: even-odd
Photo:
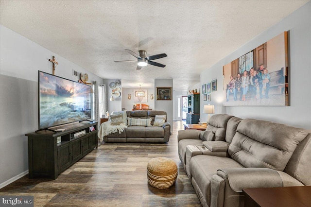
[[[163,126],[153,126],[155,115],[167,115],[165,111],[138,110],[126,111],[127,118],[149,119],[151,126],[128,126],[124,131],[104,136],[105,142],[139,142],[139,143],[165,143],[170,140],[171,124],[165,120]]]

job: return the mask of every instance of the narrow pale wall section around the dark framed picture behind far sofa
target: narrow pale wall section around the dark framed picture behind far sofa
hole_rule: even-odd
[[[172,87],[172,100],[156,100],[156,87]],[[167,121],[173,129],[173,79],[155,79],[155,110],[165,111],[167,113]]]

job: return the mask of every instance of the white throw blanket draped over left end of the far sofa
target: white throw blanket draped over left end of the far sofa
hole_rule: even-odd
[[[116,114],[122,114],[123,115],[123,121],[125,123],[121,123],[119,125],[111,125],[110,121],[106,121],[101,124],[101,127],[98,131],[98,138],[102,141],[104,141],[104,136],[107,136],[112,133],[116,133],[119,131],[119,134],[121,134],[125,128],[127,128],[126,125],[126,111],[113,111],[111,115],[116,115]]]

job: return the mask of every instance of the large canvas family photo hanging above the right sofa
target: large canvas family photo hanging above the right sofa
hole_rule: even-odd
[[[288,103],[287,32],[223,67],[225,106]]]

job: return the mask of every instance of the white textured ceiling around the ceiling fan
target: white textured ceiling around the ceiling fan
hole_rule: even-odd
[[[173,78],[175,90],[275,25],[308,0],[1,0],[1,24],[126,88]],[[166,53],[136,70],[125,52]]]

